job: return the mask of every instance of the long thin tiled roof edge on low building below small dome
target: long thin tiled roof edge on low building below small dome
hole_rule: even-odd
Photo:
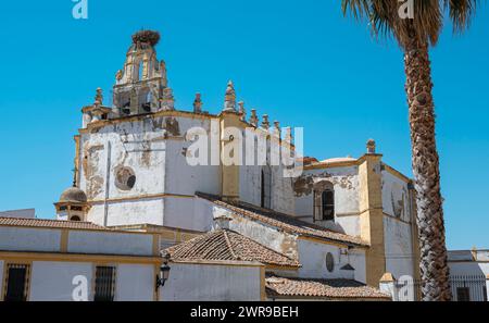
[[[93,224],[91,222],[82,221],[60,221],[48,219],[26,219],[26,218],[0,218],[0,226],[30,226],[30,227],[49,227],[49,228],[79,228],[79,229],[101,229],[109,228]]]

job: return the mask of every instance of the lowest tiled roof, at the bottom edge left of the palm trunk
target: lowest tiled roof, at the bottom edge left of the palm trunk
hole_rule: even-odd
[[[377,288],[352,279],[285,278],[268,276],[265,279],[269,298],[323,298],[323,299],[379,299],[390,296]]]

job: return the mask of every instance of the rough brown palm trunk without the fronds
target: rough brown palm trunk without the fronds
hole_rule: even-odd
[[[423,300],[451,300],[428,46],[412,40],[405,48],[404,67]]]

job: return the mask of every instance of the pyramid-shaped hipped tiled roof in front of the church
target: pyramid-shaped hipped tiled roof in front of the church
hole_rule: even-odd
[[[299,268],[298,261],[274,251],[234,231],[218,228],[170,247],[172,260],[258,261],[268,265]]]

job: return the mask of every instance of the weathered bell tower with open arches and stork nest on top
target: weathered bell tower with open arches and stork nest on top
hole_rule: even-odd
[[[114,117],[174,110],[165,62],[158,61],[154,49],[159,40],[160,34],[153,30],[140,30],[133,35],[124,69],[115,75]]]

